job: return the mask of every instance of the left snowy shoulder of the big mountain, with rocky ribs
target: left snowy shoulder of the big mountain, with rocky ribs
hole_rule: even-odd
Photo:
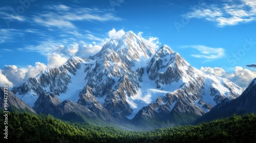
[[[45,92],[56,94],[61,101],[71,99],[77,102],[77,94],[85,83],[83,78],[81,78],[81,76],[84,76],[84,67],[81,66],[86,61],[87,59],[71,57],[60,67],[41,71],[35,78],[29,78],[26,83],[19,87],[14,87],[12,90],[31,107],[38,96]]]

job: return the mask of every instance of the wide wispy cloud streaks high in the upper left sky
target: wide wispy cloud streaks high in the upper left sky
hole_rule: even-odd
[[[74,21],[117,21],[121,18],[109,10],[97,8],[68,7],[65,5],[46,6],[47,11],[34,15],[33,20],[42,26],[74,29]]]

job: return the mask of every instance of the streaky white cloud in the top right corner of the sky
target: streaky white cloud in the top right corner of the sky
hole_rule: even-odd
[[[234,26],[256,20],[256,2],[242,0],[236,4],[232,1],[221,5],[205,4],[202,7],[192,8],[183,16],[212,21],[219,27]]]

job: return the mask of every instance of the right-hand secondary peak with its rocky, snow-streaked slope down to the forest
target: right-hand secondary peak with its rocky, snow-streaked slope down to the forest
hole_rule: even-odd
[[[243,91],[227,79],[206,75],[191,67],[166,45],[156,52],[146,71],[148,78],[160,88],[158,91],[167,90],[167,93],[143,107],[133,118],[145,127],[159,122],[193,123],[223,99],[235,99]]]

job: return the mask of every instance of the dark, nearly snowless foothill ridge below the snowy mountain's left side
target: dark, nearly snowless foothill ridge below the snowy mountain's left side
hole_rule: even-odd
[[[101,105],[98,105],[101,106],[101,108],[91,103],[89,103],[89,105],[90,106],[82,106],[71,100],[61,102],[55,94],[45,92],[36,100],[33,109],[37,113],[51,114],[60,118],[68,113],[76,113],[81,116],[98,117],[103,121],[115,122],[114,118],[112,118],[107,110],[101,109],[103,108]]]

